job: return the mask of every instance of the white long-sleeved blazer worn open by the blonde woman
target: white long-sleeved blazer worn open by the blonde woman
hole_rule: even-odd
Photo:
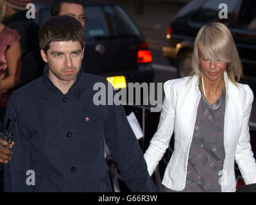
[[[252,109],[253,92],[248,85],[234,85],[224,73],[226,107],[224,119],[225,161],[219,172],[222,192],[235,192],[234,161],[246,184],[256,183],[256,163],[250,145],[248,121]],[[175,147],[167,164],[162,184],[171,190],[185,188],[189,149],[194,133],[196,113],[201,98],[198,77],[172,79],[164,83],[165,98],[158,129],[150,141],[144,158],[149,174],[153,174],[164,156],[175,132]]]

